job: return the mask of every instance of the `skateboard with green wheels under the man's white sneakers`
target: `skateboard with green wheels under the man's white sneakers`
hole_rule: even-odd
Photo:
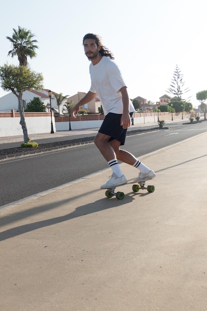
[[[147,180],[151,180],[151,179],[147,179]],[[132,186],[132,190],[134,192],[138,192],[139,190],[147,190],[148,192],[154,192],[155,190],[155,187],[153,185],[148,185],[147,187],[145,187],[145,182],[147,180],[143,180],[143,181],[137,181],[135,182],[133,179],[130,179],[127,181],[127,183],[125,184],[122,184],[122,185],[119,185],[119,186],[116,186],[116,187],[112,187],[112,188],[107,188],[106,192],[105,192],[105,195],[107,198],[112,198],[113,196],[116,196],[116,198],[118,200],[123,200],[124,197],[125,197],[125,194],[124,192],[121,192],[121,191],[118,191],[118,192],[115,192],[115,189],[117,187],[121,187],[121,186],[124,186],[124,185],[127,185],[129,183],[131,184],[134,184]],[[104,188],[103,188],[104,189]]]

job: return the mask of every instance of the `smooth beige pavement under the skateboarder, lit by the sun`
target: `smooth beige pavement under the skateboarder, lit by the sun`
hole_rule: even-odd
[[[207,311],[206,142],[140,158],[153,193],[106,198],[107,169],[0,210],[1,309]]]

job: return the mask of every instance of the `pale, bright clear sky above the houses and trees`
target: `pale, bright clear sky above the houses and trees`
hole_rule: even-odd
[[[10,0],[1,3],[0,66],[18,65],[7,56],[13,28],[31,30],[38,41],[37,57],[28,63],[42,73],[44,88],[72,96],[88,92],[89,64],[82,38],[99,34],[114,55],[130,98],[153,102],[168,94],[176,65],[196,93],[207,89],[206,0]],[[0,97],[7,94],[0,87]]]

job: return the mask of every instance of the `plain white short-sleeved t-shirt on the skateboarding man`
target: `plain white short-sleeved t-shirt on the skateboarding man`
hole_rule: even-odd
[[[90,64],[89,67],[91,87],[90,92],[97,93],[101,100],[104,114],[123,113],[122,94],[119,91],[126,86],[118,66],[108,57],[103,56],[96,65]],[[129,100],[130,112],[135,108]]]

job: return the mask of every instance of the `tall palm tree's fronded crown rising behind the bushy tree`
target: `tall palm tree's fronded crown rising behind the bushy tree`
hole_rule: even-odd
[[[12,50],[8,52],[8,56],[17,55],[20,66],[27,66],[27,56],[30,58],[36,56],[35,49],[38,49],[38,46],[34,44],[37,40],[32,40],[33,37],[34,34],[30,30],[20,26],[17,30],[13,28],[12,37],[6,37],[12,44]]]

